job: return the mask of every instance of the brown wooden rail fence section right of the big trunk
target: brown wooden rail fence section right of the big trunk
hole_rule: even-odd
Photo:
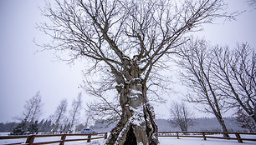
[[[216,137],[213,135],[216,134],[228,134],[234,135],[234,137],[224,138]],[[252,138],[241,138],[241,135],[252,135]],[[158,132],[158,137],[176,137],[176,138],[217,138],[217,139],[230,139],[238,140],[238,143],[243,143],[243,141],[255,141],[256,142],[256,133],[237,133],[237,132]]]

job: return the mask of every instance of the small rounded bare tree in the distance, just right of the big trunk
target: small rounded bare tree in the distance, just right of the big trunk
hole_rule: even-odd
[[[170,114],[172,116],[172,123],[179,126],[183,132],[187,132],[187,128],[193,125],[192,111],[184,102],[172,102]]]

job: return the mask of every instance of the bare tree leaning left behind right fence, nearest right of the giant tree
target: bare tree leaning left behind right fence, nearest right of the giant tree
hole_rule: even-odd
[[[212,112],[223,132],[228,132],[222,115],[225,111],[225,97],[215,87],[210,54],[211,47],[206,41],[192,39],[182,47],[182,59],[178,64],[186,70],[182,77],[187,87],[196,92],[195,96],[188,97],[188,102],[204,104],[204,112]],[[226,133],[223,135],[229,137]]]

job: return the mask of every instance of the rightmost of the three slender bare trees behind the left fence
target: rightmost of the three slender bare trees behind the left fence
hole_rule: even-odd
[[[73,133],[74,131],[74,126],[77,123],[77,119],[79,117],[80,110],[82,108],[82,92],[79,93],[79,96],[73,100],[72,102],[72,108],[70,110],[70,116],[71,121],[70,121],[70,126],[69,126],[69,133]]]

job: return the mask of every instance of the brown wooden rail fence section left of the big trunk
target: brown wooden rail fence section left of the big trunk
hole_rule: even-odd
[[[9,140],[9,139],[21,139],[24,138],[26,141],[19,143],[7,143],[5,145],[10,144],[25,144],[25,145],[38,145],[38,144],[51,144],[51,143],[59,143],[59,145],[64,145],[66,142],[77,142],[77,141],[87,141],[90,143],[91,140],[107,138],[107,133],[92,133],[92,134],[35,134],[35,135],[22,135],[22,136],[0,136],[0,140]],[[35,138],[52,138],[59,137],[59,140],[54,141],[45,141],[45,142],[34,142]],[[83,137],[83,138],[69,138],[69,137]],[[85,137],[85,138],[84,138]]]

